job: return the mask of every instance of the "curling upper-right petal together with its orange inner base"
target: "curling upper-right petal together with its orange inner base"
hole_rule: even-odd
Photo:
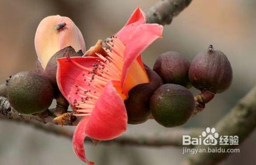
[[[137,82],[137,84],[145,83],[145,80],[147,77],[145,77],[146,74],[136,74],[138,78],[135,78],[136,75],[134,73],[137,69],[136,63],[134,61],[136,60],[137,63],[140,64],[142,67],[142,62],[140,59],[140,54],[147,48],[148,45],[150,45],[153,41],[155,41],[157,38],[162,37],[162,31],[163,26],[158,24],[143,24],[137,28],[137,30],[132,35],[131,39],[127,42],[126,48],[124,51],[124,64],[122,69],[122,77],[121,77],[121,84],[123,84],[123,92],[127,93],[131,88],[134,87],[134,84],[131,85],[129,82],[132,80],[141,80],[141,82]],[[143,68],[143,72],[145,73],[145,70]],[[142,78],[143,76],[145,78]],[[141,78],[139,78],[141,77]],[[126,81],[126,79],[129,79],[129,81]]]

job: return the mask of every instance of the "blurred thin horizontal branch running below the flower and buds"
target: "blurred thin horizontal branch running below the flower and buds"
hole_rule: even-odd
[[[0,116],[0,120],[8,120],[7,118]],[[41,124],[31,120],[15,120],[18,123],[24,123],[26,125],[32,126],[37,130],[41,130],[47,133],[51,133],[57,136],[66,137],[72,139],[73,132],[63,127],[53,125],[53,124]],[[168,132],[139,132],[139,133],[130,133],[123,134],[122,136],[115,138],[113,140],[102,141],[100,144],[118,144],[118,145],[127,145],[127,146],[148,146],[148,147],[163,147],[163,146],[182,146],[182,135],[191,135],[197,136],[202,132],[202,128],[191,128],[191,129],[182,129],[174,128]],[[87,137],[87,142],[92,143],[92,140]],[[193,146],[189,146],[193,147]]]

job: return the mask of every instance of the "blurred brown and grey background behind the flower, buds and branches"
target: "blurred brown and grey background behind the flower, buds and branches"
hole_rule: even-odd
[[[133,10],[153,6],[157,0],[0,0],[0,81],[23,70],[33,70],[36,54],[34,34],[40,20],[48,15],[68,16],[76,23],[87,48],[98,39],[115,34]],[[172,24],[164,27],[163,39],[143,53],[144,62],[153,66],[157,56],[178,51],[189,60],[213,44],[223,51],[233,68],[233,83],[217,95],[206,109],[183,127],[211,127],[255,85],[256,1],[194,0]],[[193,91],[196,93],[195,89]],[[128,131],[169,130],[154,121],[130,125]],[[218,131],[218,130],[217,130]],[[108,164],[178,164],[185,155],[181,148],[93,147],[87,144],[91,160]],[[255,164],[256,132],[221,164]],[[23,124],[0,121],[0,164],[45,165],[83,164],[72,150],[71,140],[38,131]]]

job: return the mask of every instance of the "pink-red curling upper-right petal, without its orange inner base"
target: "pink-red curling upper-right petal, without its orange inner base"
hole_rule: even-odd
[[[138,59],[140,65],[142,61],[139,55],[157,38],[162,37],[163,26],[158,24],[143,24],[137,28],[131,39],[127,41],[124,51],[124,64],[122,69],[121,84],[123,84],[127,72],[135,59]],[[124,93],[127,93],[123,88]]]

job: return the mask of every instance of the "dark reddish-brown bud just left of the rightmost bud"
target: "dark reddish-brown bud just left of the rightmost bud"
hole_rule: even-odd
[[[163,82],[179,84],[190,88],[188,79],[189,61],[178,52],[161,54],[154,64],[153,70],[159,74]]]

